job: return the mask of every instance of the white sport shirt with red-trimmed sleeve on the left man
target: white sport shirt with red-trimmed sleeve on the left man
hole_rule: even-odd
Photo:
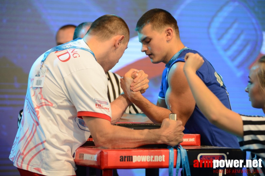
[[[66,45],[89,49],[83,39]],[[48,55],[44,87],[32,87],[43,56],[30,70],[22,121],[9,158],[14,166],[42,175],[75,175],[72,156],[90,136],[81,116],[111,121],[108,80],[91,53],[67,49]]]

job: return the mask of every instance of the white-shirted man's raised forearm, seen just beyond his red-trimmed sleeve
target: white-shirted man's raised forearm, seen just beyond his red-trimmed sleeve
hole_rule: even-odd
[[[117,99],[111,102],[111,124],[116,123],[124,114],[126,108],[131,104],[131,101],[125,94],[121,94]]]

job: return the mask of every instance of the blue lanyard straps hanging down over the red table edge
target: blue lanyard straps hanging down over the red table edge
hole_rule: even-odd
[[[176,176],[180,170],[180,164],[182,163],[182,172],[186,170],[186,175],[190,176],[190,164],[188,160],[187,150],[182,148],[181,145],[176,145],[174,147],[168,146],[169,149],[169,166],[168,166],[168,175],[173,176],[174,168],[174,148],[177,149],[177,163],[176,163]]]

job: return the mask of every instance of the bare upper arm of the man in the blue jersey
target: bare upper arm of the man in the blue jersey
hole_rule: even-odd
[[[189,84],[183,72],[184,62],[172,65],[168,74],[166,102],[168,109],[177,114],[177,119],[185,126],[195,108],[195,99],[192,96]]]

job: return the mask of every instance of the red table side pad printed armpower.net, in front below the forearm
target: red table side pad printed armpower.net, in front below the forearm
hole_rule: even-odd
[[[174,149],[174,167],[177,150]],[[98,169],[168,168],[169,150],[166,148],[102,149],[81,146],[75,151],[75,164]]]

